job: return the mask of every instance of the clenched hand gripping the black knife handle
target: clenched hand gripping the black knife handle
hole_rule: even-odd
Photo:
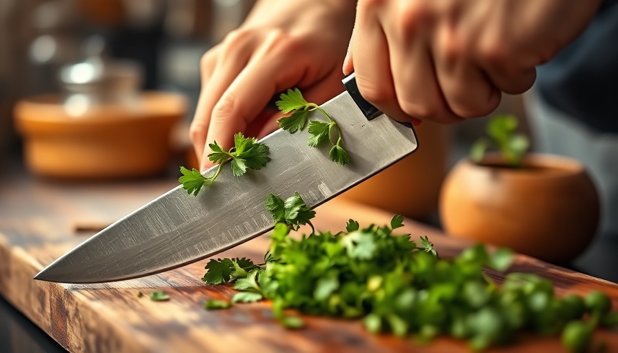
[[[343,72],[401,121],[453,123],[519,94],[600,0],[359,0]]]

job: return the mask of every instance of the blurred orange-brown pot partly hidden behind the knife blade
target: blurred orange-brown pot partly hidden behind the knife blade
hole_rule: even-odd
[[[426,219],[436,212],[448,172],[450,128],[424,121],[415,132],[419,140],[416,152],[339,197],[413,219]]]

